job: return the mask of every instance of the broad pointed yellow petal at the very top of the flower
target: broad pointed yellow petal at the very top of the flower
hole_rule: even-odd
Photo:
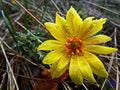
[[[72,30],[71,32],[74,35],[78,34],[78,31],[80,30],[82,24],[82,19],[73,7],[71,7],[67,12],[66,21]]]

